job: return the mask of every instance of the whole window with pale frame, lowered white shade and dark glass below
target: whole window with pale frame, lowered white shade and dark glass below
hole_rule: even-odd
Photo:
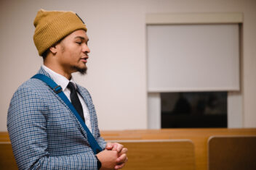
[[[188,122],[172,124],[172,127],[242,127],[239,77],[242,22],[241,13],[146,15],[149,129],[165,128],[168,116],[175,116],[175,122],[178,116],[183,117],[183,121],[209,120],[207,125]],[[190,114],[177,114],[177,111],[174,114],[173,110],[162,107],[164,95],[190,96],[191,99],[196,93],[197,97],[203,94],[209,97],[210,91],[225,96],[221,99],[225,105],[220,106],[223,111],[218,114],[209,114],[205,103],[210,99],[193,101],[198,103],[197,111],[189,103],[193,108]],[[218,119],[218,123],[214,119]]]

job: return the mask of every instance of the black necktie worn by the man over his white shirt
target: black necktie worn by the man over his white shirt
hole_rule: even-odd
[[[79,96],[77,95],[76,88],[74,87],[72,82],[68,83],[68,88],[71,90],[71,103],[75,107],[76,111],[79,112],[81,119],[84,121],[84,112],[81,106],[81,102],[79,101]]]

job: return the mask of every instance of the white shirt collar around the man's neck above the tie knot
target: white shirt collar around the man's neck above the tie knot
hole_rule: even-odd
[[[60,85],[60,87],[63,88],[63,91],[65,90],[65,88],[67,88],[69,82],[72,82],[75,88],[77,88],[76,82],[74,82],[73,77],[71,77],[71,80],[68,80],[63,75],[60,75],[57,72],[54,72],[52,69],[49,69],[45,65],[42,65],[42,67],[46,72],[48,72],[48,74],[52,77],[52,79],[56,82],[56,84]]]

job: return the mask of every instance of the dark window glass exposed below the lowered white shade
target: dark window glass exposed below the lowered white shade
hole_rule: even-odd
[[[161,93],[161,128],[227,127],[227,92]]]

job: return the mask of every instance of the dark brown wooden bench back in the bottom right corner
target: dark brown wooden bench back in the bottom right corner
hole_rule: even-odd
[[[208,143],[209,170],[256,169],[256,136],[213,136]]]

